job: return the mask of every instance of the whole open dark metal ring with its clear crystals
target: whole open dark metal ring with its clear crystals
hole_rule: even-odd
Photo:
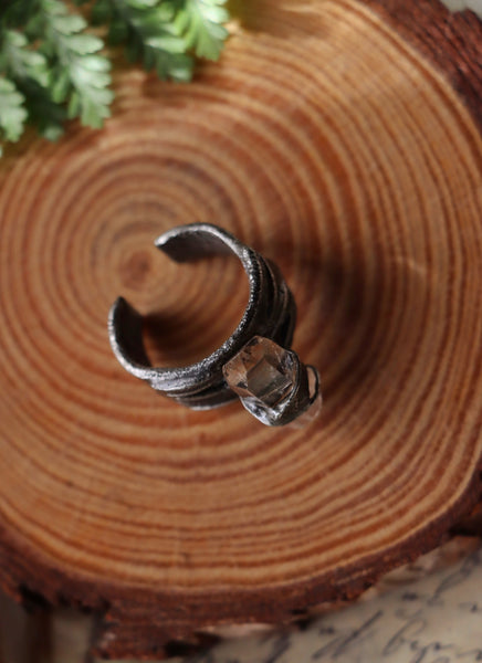
[[[302,364],[291,349],[296,305],[277,266],[210,223],[174,228],[155,245],[179,263],[234,254],[248,275],[248,306],[237,329],[211,355],[186,367],[158,368],[144,348],[142,315],[118,297],[109,312],[108,336],[119,364],[195,410],[217,408],[239,397],[266,425],[295,422],[301,427],[311,421],[322,403],[318,371]]]

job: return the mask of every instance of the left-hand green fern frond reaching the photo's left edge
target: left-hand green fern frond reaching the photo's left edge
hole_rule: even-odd
[[[3,95],[0,140],[20,137],[22,131],[4,129],[3,118],[14,113],[22,129],[29,122],[52,140],[62,135],[67,116],[101,126],[113,98],[111,64],[98,53],[103,41],[86,32],[85,20],[61,0],[17,0],[0,19],[0,81],[9,90],[13,85],[21,98],[6,107],[12,96]]]

